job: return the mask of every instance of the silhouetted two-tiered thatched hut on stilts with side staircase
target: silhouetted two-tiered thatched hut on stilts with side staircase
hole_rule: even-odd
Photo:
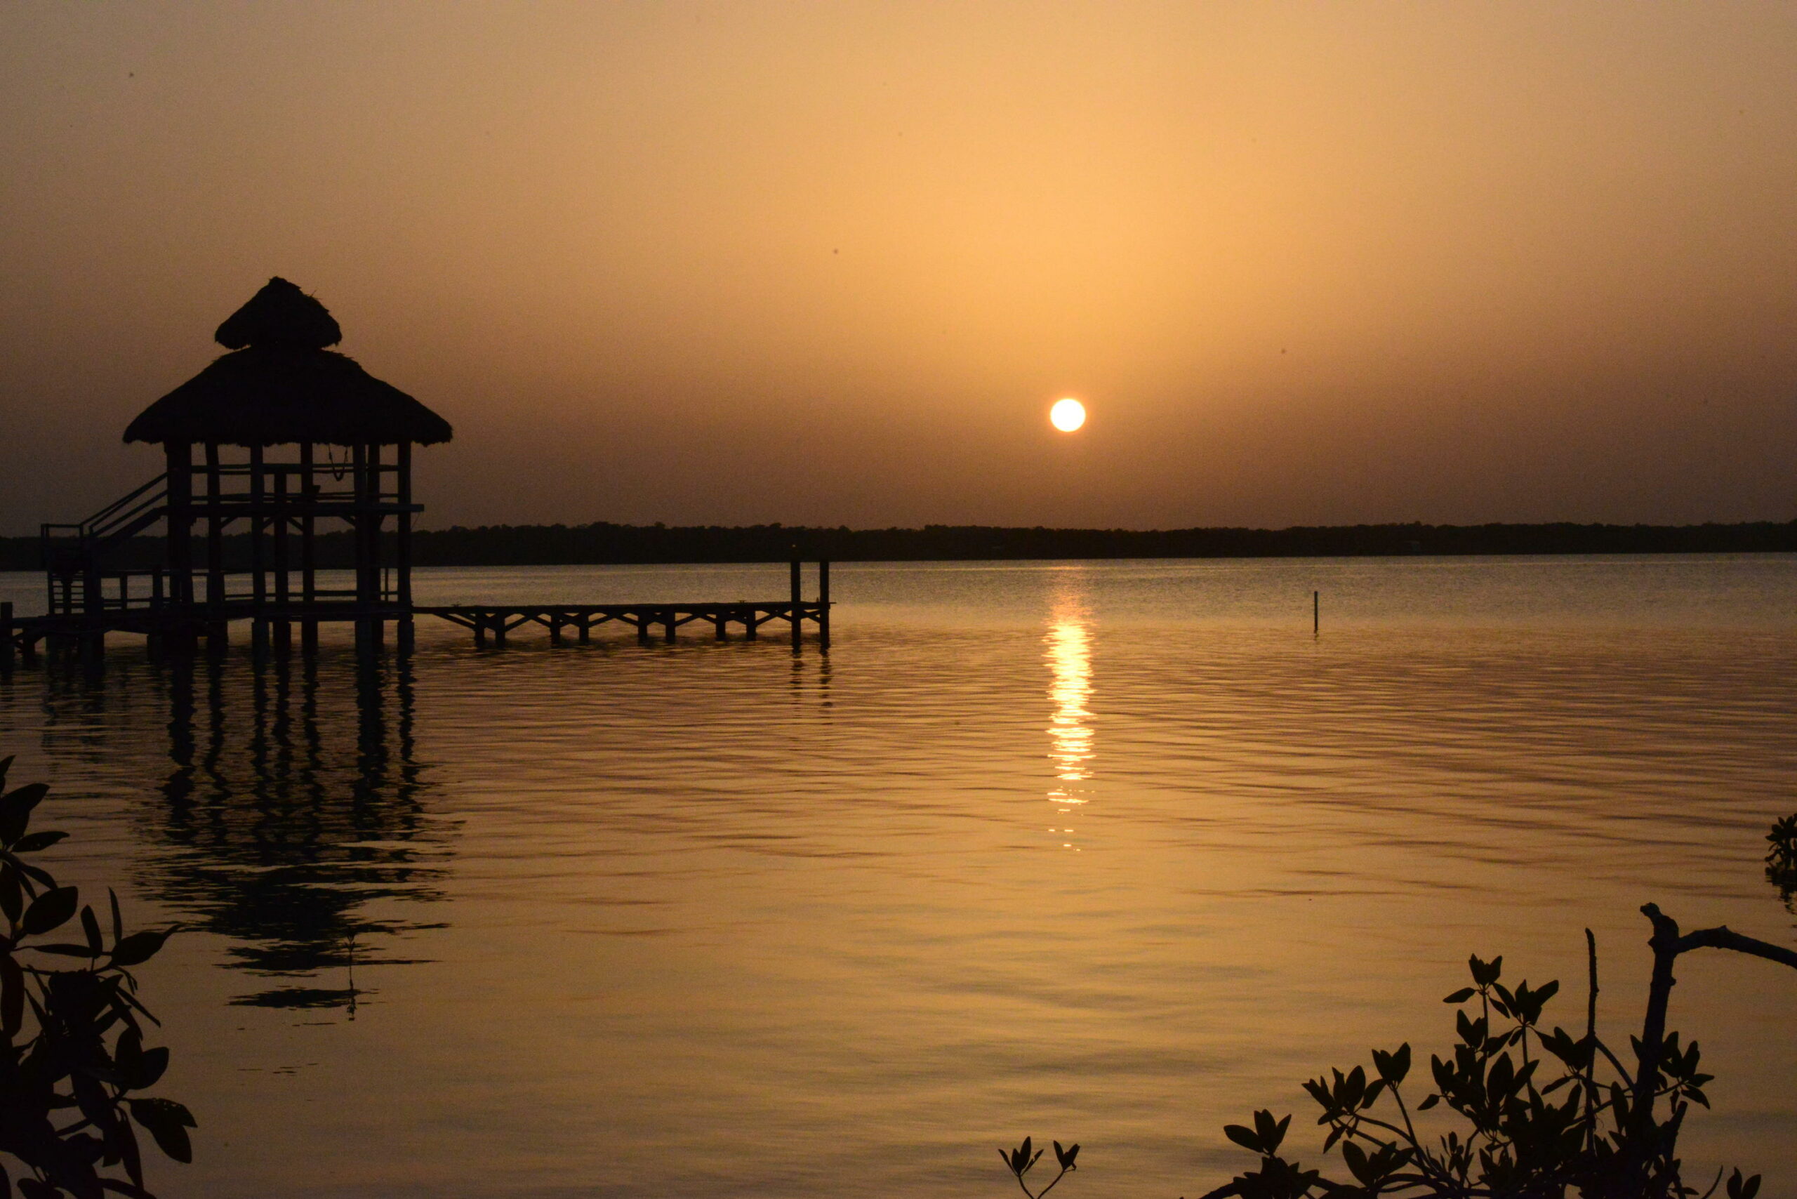
[[[422,511],[412,448],[449,440],[449,422],[327,349],[341,340],[336,320],[286,279],[216,338],[230,352],[124,431],[162,446],[164,475],[79,525],[43,527],[49,615],[81,617],[90,638],[128,629],[214,645],[246,618],[257,649],[286,649],[295,626],[313,649],[325,620],[354,622],[358,645],[379,647],[392,622],[410,644]],[[158,523],[162,561],[135,566]],[[320,586],[318,537],[345,527],[354,586]],[[230,554],[226,532],[244,534]]]

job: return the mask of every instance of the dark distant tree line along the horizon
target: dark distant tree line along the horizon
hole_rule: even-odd
[[[318,539],[320,566],[350,564],[350,536]],[[983,561],[1066,557],[1360,557],[1400,554],[1750,554],[1797,552],[1797,521],[1743,525],[1335,525],[1294,528],[816,528],[801,525],[482,525],[413,534],[419,566],[593,563]],[[122,564],[160,559],[140,537]],[[243,537],[226,559],[248,561]],[[0,537],[0,570],[36,570],[36,537]]]

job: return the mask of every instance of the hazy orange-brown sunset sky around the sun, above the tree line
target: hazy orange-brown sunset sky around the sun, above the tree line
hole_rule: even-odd
[[[1797,5],[0,7],[0,532],[270,275],[428,525],[1792,520]]]

